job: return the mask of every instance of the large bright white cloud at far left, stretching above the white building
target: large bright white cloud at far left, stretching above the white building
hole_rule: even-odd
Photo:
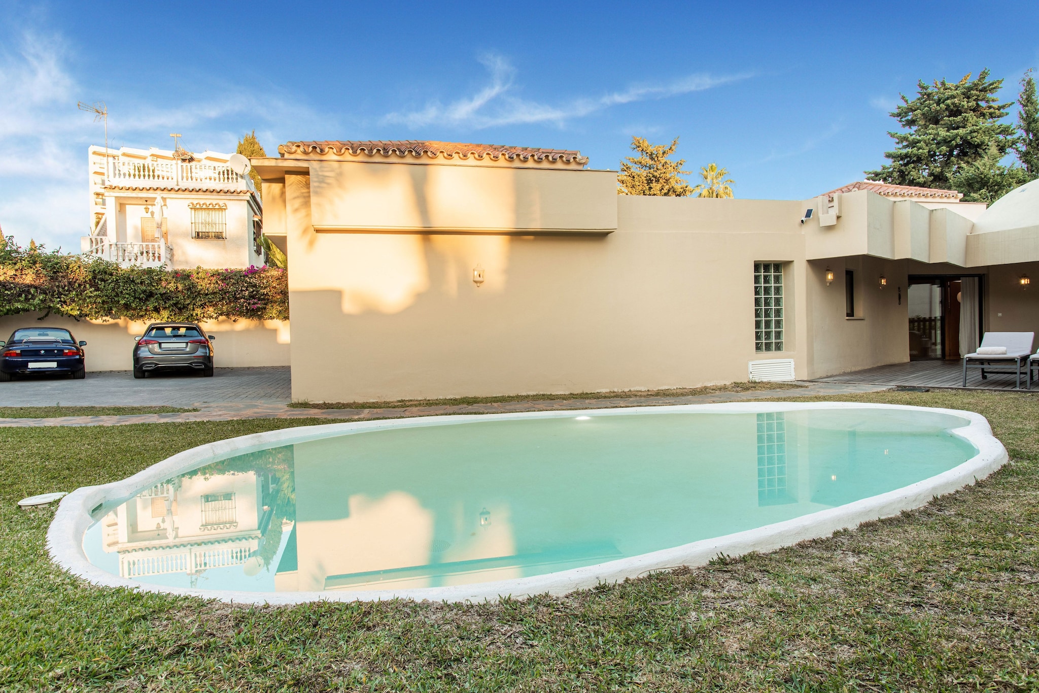
[[[25,31],[0,42],[0,226],[19,243],[29,238],[78,250],[87,233],[86,148],[104,141],[103,126],[76,108],[98,94],[70,65],[75,51],[59,34]],[[206,91],[209,91],[207,94]],[[330,129],[335,121],[274,89],[260,98],[234,86],[197,89],[189,97],[166,89],[162,107],[134,89],[107,91],[109,138],[114,146],[169,146],[166,134],[185,134],[188,149],[233,151],[238,124],[257,127],[267,142],[283,124]],[[295,135],[295,133],[291,133]]]

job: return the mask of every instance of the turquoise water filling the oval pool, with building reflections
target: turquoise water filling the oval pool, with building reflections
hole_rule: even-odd
[[[790,519],[950,470],[963,419],[899,409],[485,419],[220,459],[111,508],[89,560],[247,591],[555,572]]]

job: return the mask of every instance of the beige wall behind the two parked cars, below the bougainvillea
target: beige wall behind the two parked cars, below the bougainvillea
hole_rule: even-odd
[[[50,315],[37,320],[38,313],[0,316],[0,339],[6,340],[19,327],[52,325],[69,329],[85,341],[87,371],[129,371],[133,368],[134,336],[143,334],[146,322],[127,319],[80,320]],[[217,368],[243,366],[288,366],[289,323],[281,320],[212,320],[202,323],[214,343]]]

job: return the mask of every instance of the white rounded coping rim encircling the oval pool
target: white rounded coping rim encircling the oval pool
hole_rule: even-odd
[[[449,587],[416,587],[387,590],[331,590],[321,592],[247,592],[237,590],[185,589],[140,583],[112,575],[97,567],[87,559],[83,537],[94,524],[91,510],[113,499],[134,495],[199,463],[225,458],[250,450],[273,446],[303,443],[329,434],[383,428],[439,426],[462,422],[486,422],[509,419],[552,419],[579,416],[631,416],[637,414],[668,414],[697,411],[703,414],[735,414],[766,411],[794,411],[801,409],[877,408],[927,411],[960,417],[969,421],[953,429],[958,435],[978,449],[978,454],[947,472],[916,483],[861,499],[853,503],[820,510],[781,523],[766,525],[735,534],[693,541],[673,549],[655,551],[640,556],[588,565],[541,576],[501,580],[496,582],[455,585]],[[752,552],[765,553],[790,547],[805,539],[816,539],[833,532],[897,515],[929,503],[933,498],[951,494],[984,479],[1006,463],[1007,451],[992,435],[988,421],[979,414],[958,409],[939,409],[900,404],[872,404],[858,402],[729,402],[723,404],[685,404],[678,406],[640,406],[610,409],[582,409],[565,411],[525,411],[515,414],[462,415],[446,417],[419,417],[383,421],[365,421],[322,426],[300,426],[266,433],[254,433],[218,441],[185,450],[153,464],[132,477],[101,486],[77,488],[61,500],[57,513],[47,532],[47,548],[53,560],[69,572],[95,585],[125,587],[142,592],[193,595],[238,604],[290,605],[305,602],[354,602],[392,598],[430,599],[444,602],[497,601],[503,596],[531,596],[535,594],[566,594],[578,589],[595,587],[603,583],[616,583],[625,578],[636,578],[654,570],[678,566],[704,565],[719,554],[737,557]]]

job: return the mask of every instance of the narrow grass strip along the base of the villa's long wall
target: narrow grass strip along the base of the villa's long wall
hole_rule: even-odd
[[[387,402],[292,402],[298,409],[403,409],[410,406],[457,406],[459,404],[498,404],[501,402],[543,402],[574,399],[631,399],[642,397],[693,397],[717,393],[760,392],[763,390],[791,390],[804,385],[792,382],[727,382],[701,388],[671,388],[668,390],[624,390],[597,393],[496,395],[491,397],[451,397],[446,399],[396,399]]]

